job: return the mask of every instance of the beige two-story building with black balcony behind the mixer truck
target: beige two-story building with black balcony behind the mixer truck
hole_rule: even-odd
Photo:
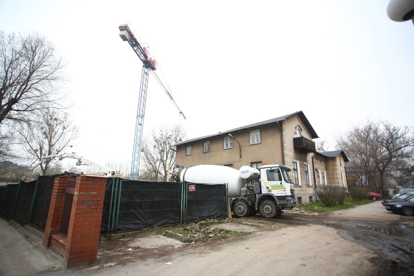
[[[319,138],[302,111],[180,142],[175,146],[175,164],[223,165],[259,169],[265,164],[283,164],[292,169],[297,203],[316,200],[316,185],[346,187],[345,165],[340,151],[317,152],[312,139]]]

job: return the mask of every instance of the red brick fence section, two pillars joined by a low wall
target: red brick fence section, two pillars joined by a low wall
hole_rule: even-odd
[[[96,263],[106,180],[104,176],[77,175],[67,236],[58,231],[68,179],[55,180],[44,244],[65,258],[67,268]]]

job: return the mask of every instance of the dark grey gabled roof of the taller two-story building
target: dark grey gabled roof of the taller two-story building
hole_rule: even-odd
[[[186,143],[190,143],[190,142],[198,141],[198,140],[204,140],[206,138],[210,138],[210,137],[214,137],[214,136],[223,135],[223,134],[226,134],[226,133],[231,133],[231,132],[239,131],[239,130],[246,129],[246,128],[250,128],[250,127],[256,127],[256,126],[260,126],[260,125],[263,125],[263,124],[273,123],[273,122],[277,122],[277,121],[283,121],[283,120],[286,120],[286,119],[288,119],[288,118],[290,118],[290,117],[292,117],[294,115],[298,115],[300,117],[300,119],[304,123],[305,127],[311,133],[311,138],[312,139],[319,138],[319,136],[313,130],[313,127],[311,126],[311,123],[305,117],[305,114],[303,114],[302,111],[297,111],[297,112],[294,112],[292,114],[288,114],[288,115],[285,115],[285,116],[277,117],[277,118],[270,119],[270,120],[266,120],[266,121],[260,121],[260,122],[248,124],[248,125],[241,126],[241,127],[238,127],[238,128],[233,128],[233,129],[230,129],[230,130],[227,130],[227,131],[224,131],[224,132],[219,132],[219,133],[216,133],[216,134],[213,134],[213,135],[207,135],[207,136],[203,136],[203,137],[199,137],[199,138],[190,139],[190,140],[183,141],[183,142],[180,142],[178,144],[175,144],[173,146],[178,146],[178,145],[181,145],[181,144],[186,144]]]

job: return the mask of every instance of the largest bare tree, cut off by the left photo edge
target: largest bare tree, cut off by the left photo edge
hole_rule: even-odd
[[[0,32],[0,51],[0,124],[63,108],[57,86],[63,81],[62,61],[45,37]]]

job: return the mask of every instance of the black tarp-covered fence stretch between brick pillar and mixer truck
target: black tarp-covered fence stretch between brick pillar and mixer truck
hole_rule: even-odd
[[[227,217],[226,185],[108,179],[101,232]]]

